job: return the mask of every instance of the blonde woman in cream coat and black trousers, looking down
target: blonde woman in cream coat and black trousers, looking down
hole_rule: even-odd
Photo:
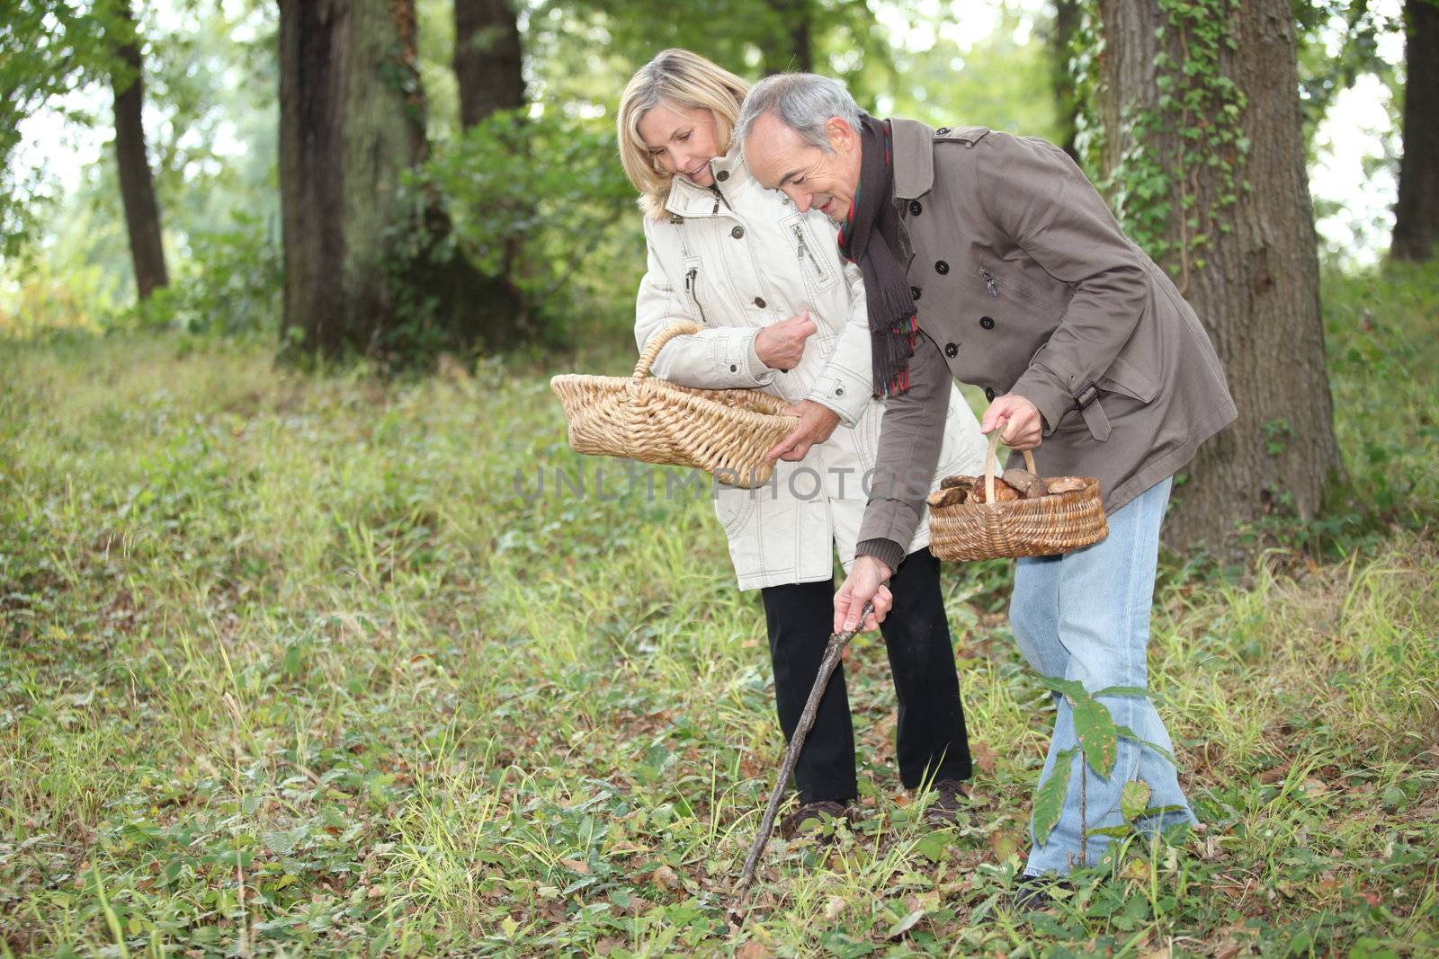
[[[770,450],[780,462],[768,485],[721,487],[715,500],[740,588],[763,594],[777,712],[789,738],[829,638],[835,549],[846,572],[855,561],[884,404],[873,395],[859,269],[839,257],[823,213],[802,213],[760,187],[740,150],[731,150],[747,92],[743,79],[709,60],[665,50],[625,89],[619,150],[640,194],[649,254],[636,344],[681,321],[704,328],[666,344],[655,375],[763,390],[789,401],[800,421]],[[984,440],[953,387],[947,416],[938,476],[977,473]],[[888,610],[882,631],[899,702],[899,776],[908,789],[932,784],[931,821],[953,821],[970,752],[927,523],[888,587],[876,605]],[[794,781],[800,807],[781,824],[786,834],[843,815],[858,795],[842,669]]]

